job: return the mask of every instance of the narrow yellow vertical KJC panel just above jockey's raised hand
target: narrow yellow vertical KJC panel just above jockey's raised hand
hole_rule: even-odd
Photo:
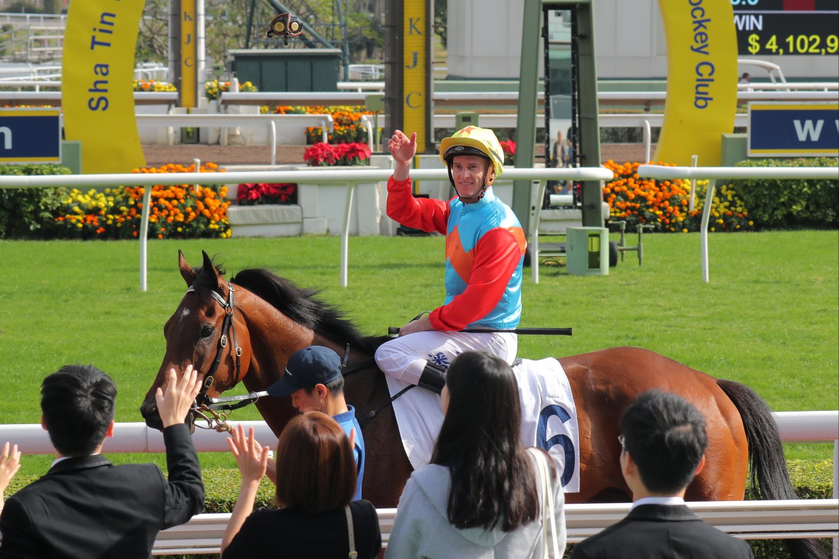
[[[425,146],[433,138],[426,137],[425,116],[430,100],[425,98],[425,83],[429,68],[425,67],[425,34],[429,33],[428,18],[425,17],[425,0],[411,0],[404,3],[404,132],[410,136],[417,133],[417,153],[425,153]]]

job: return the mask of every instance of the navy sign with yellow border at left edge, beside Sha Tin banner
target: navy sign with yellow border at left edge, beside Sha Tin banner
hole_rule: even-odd
[[[0,109],[0,163],[61,163],[61,111]]]

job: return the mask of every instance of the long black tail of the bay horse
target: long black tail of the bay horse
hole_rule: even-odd
[[[734,402],[743,419],[751,473],[749,494],[753,499],[798,499],[789,479],[778,424],[769,405],[739,382],[717,379],[717,385]],[[784,543],[795,558],[827,557],[825,547],[818,540],[786,539]]]

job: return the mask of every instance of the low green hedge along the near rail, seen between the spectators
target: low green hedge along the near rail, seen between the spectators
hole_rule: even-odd
[[[789,477],[795,485],[795,490],[801,499],[832,499],[833,498],[833,463],[831,460],[787,460]],[[37,479],[37,476],[18,476],[12,480],[6,491],[7,495],[14,494]],[[204,472],[204,486],[206,489],[205,512],[231,512],[239,494],[239,484],[242,478],[237,469],[214,469]],[[272,506],[274,504],[274,485],[268,479],[263,479],[259,485],[256,506]],[[830,541],[824,540],[826,549],[830,549]],[[784,541],[781,540],[752,540],[750,541],[755,559],[786,559]],[[565,556],[571,551],[569,546]],[[174,558],[175,556],[170,556]],[[195,559],[213,559],[215,555],[177,556],[179,559],[194,557]]]

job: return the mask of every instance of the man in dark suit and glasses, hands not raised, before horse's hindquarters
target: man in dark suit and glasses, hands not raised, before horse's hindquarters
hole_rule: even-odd
[[[749,559],[752,548],[703,522],[685,489],[705,465],[705,418],[675,394],[648,391],[621,417],[621,469],[633,507],[618,524],[574,546],[571,559]]]

